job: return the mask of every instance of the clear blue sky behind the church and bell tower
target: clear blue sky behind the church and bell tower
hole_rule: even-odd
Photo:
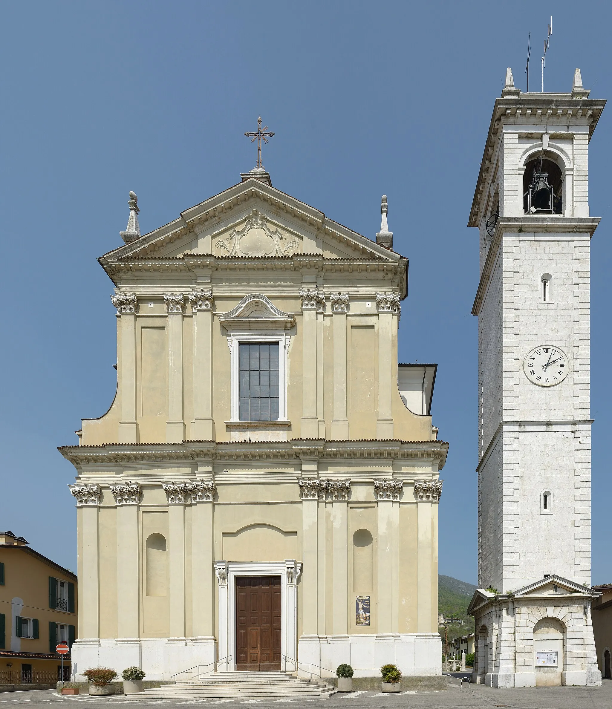
[[[239,181],[257,116],[282,191],[374,238],[389,196],[410,259],[400,359],[437,362],[433,417],[450,442],[440,573],[476,579],[478,238],[466,227],[506,67],[538,86],[611,96],[610,5],[555,2],[27,2],[0,6],[0,527],[76,568],[57,452],[116,386],[111,281],[128,191],[143,233]],[[611,108],[590,146],[593,582],[612,581],[608,272]],[[560,540],[562,543],[562,540]]]

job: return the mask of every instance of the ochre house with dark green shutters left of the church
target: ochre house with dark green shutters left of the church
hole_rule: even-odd
[[[61,679],[58,642],[77,637],[77,576],[0,532],[0,677],[3,683]],[[70,654],[65,655],[65,679]]]

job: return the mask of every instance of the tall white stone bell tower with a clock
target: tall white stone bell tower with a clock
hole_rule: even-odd
[[[589,213],[588,147],[605,103],[589,99],[579,69],[571,92],[541,94],[521,93],[508,69],[469,215],[480,240],[474,674],[492,686],[533,686],[544,674],[601,683],[589,588],[589,257],[599,218]],[[560,634],[547,659],[543,618]]]

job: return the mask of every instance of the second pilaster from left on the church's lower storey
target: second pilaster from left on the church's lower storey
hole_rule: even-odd
[[[117,637],[137,642],[140,636],[140,484],[111,485],[117,515]]]

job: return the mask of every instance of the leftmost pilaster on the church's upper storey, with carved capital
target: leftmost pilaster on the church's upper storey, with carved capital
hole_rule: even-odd
[[[117,308],[117,368],[121,393],[120,443],[138,443],[136,422],[136,306],[135,293],[111,296]]]

